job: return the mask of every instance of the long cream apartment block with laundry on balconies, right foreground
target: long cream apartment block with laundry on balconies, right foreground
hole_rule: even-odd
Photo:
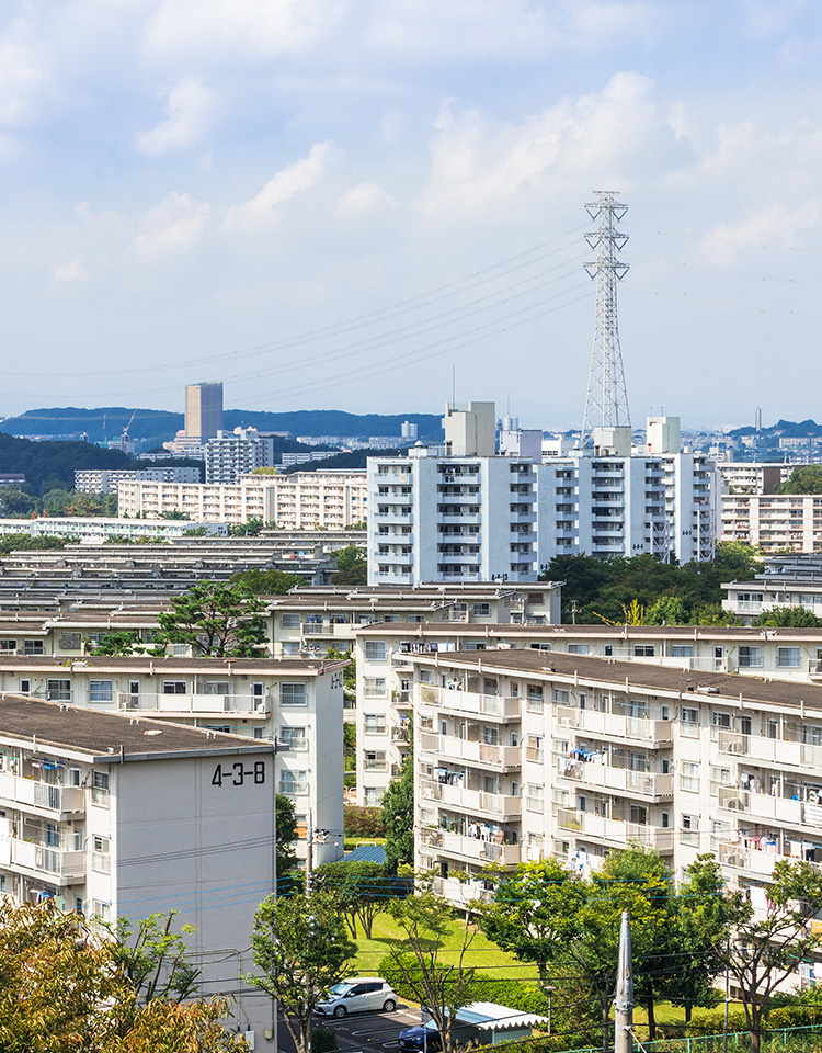
[[[487,863],[586,873],[630,841],[677,878],[715,852],[763,908],[778,859],[822,861],[820,687],[532,650],[408,661],[415,863],[455,903],[488,894]]]

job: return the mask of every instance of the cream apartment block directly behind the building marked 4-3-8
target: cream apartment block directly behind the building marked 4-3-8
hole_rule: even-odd
[[[99,713],[185,724],[237,745],[276,740],[276,792],[296,806],[305,859],[309,811],[333,831],[315,862],[342,854],[345,661],[271,658],[91,657],[11,654],[0,643],[0,692]],[[73,711],[72,710],[72,711]],[[273,778],[273,774],[272,774]]]

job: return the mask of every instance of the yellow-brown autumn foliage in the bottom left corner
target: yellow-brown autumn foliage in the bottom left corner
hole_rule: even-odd
[[[137,996],[122,948],[52,901],[0,902],[0,1049],[4,1053],[224,1053],[246,1050],[221,1026],[225,1003],[149,1004]]]

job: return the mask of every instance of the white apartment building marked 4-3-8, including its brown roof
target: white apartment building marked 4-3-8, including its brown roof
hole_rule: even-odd
[[[254,909],[274,888],[273,744],[4,694],[0,890],[133,921],[176,910],[206,996],[242,988]],[[270,1049],[272,1003],[233,1022]]]

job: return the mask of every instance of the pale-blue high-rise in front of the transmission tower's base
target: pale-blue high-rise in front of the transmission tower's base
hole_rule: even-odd
[[[553,556],[710,559],[716,540],[713,463],[680,452],[678,418],[649,418],[647,448],[630,429],[596,429],[593,451],[537,468],[539,565]]]

